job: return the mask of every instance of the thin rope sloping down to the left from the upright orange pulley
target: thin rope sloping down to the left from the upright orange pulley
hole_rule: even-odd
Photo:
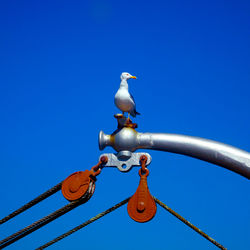
[[[93,217],[93,218],[91,218],[91,219],[85,221],[85,222],[82,223],[81,225],[79,225],[79,226],[77,226],[77,227],[71,229],[70,231],[68,231],[68,232],[66,232],[66,233],[64,233],[64,234],[62,234],[62,235],[56,237],[55,239],[53,239],[53,240],[47,242],[46,244],[44,244],[44,245],[38,247],[36,250],[41,250],[41,249],[44,249],[44,248],[46,248],[46,247],[49,247],[49,246],[51,246],[52,244],[58,242],[59,240],[62,240],[63,238],[65,238],[65,237],[71,235],[72,233],[77,232],[78,230],[82,229],[83,227],[86,227],[87,225],[91,224],[92,222],[94,222],[94,221],[100,219],[100,218],[103,217],[104,215],[106,215],[106,214],[108,214],[108,213],[111,213],[111,212],[113,212],[114,210],[116,210],[117,208],[119,208],[119,207],[125,205],[125,204],[129,201],[129,199],[130,199],[130,198],[127,198],[127,199],[125,199],[125,200],[123,200],[123,201],[117,203],[117,204],[114,205],[113,207],[111,207],[111,208],[107,209],[106,211],[104,211],[104,212],[102,212],[102,213],[96,215],[95,217]]]

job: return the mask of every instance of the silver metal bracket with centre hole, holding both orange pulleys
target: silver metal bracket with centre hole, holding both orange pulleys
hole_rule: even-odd
[[[148,166],[151,161],[152,157],[148,153],[130,153],[128,151],[121,151],[118,154],[102,154],[102,156],[106,156],[108,158],[108,162],[104,164],[104,167],[117,167],[121,172],[128,172],[131,170],[132,167],[139,167],[141,166],[140,157],[142,155],[146,155],[148,160],[146,162],[146,166]]]

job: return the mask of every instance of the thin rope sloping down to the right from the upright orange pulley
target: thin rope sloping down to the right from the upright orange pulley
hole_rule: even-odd
[[[154,200],[156,201],[156,203],[158,203],[160,206],[162,206],[164,209],[166,209],[168,212],[170,212],[172,215],[174,215],[175,217],[177,217],[179,220],[181,220],[182,222],[184,222],[187,226],[191,227],[194,231],[196,231],[197,233],[199,233],[201,236],[203,236],[204,238],[206,238],[207,240],[209,240],[210,242],[212,242],[215,246],[217,246],[220,249],[226,250],[225,247],[223,247],[221,244],[219,244],[217,241],[215,241],[213,238],[211,238],[210,236],[208,236],[206,233],[204,233],[203,231],[201,231],[198,227],[194,226],[192,223],[190,223],[189,221],[187,221],[185,218],[183,218],[181,215],[177,214],[174,210],[172,210],[170,207],[168,207],[167,205],[165,205],[164,203],[162,203],[160,200],[158,200],[157,198],[153,197]]]

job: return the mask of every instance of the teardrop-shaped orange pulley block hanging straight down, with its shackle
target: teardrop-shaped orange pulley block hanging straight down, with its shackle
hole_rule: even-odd
[[[145,167],[146,161],[147,157],[142,156],[142,168],[139,170],[139,175],[141,177],[140,183],[127,206],[129,216],[137,222],[147,222],[151,220],[156,213],[156,204],[149,192],[147,184],[149,170]]]

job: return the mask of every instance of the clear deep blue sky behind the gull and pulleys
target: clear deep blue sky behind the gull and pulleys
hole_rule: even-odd
[[[116,128],[120,74],[140,132],[200,136],[250,151],[249,1],[0,2],[0,217],[101,153]],[[113,152],[106,149],[105,152]],[[212,164],[150,154],[153,195],[228,249],[250,249],[249,181]],[[104,169],[85,205],[18,241],[34,249],[132,195],[138,169]],[[1,239],[67,202],[59,193],[0,227]],[[216,249],[161,207],[146,224],[126,208],[51,249]]]

